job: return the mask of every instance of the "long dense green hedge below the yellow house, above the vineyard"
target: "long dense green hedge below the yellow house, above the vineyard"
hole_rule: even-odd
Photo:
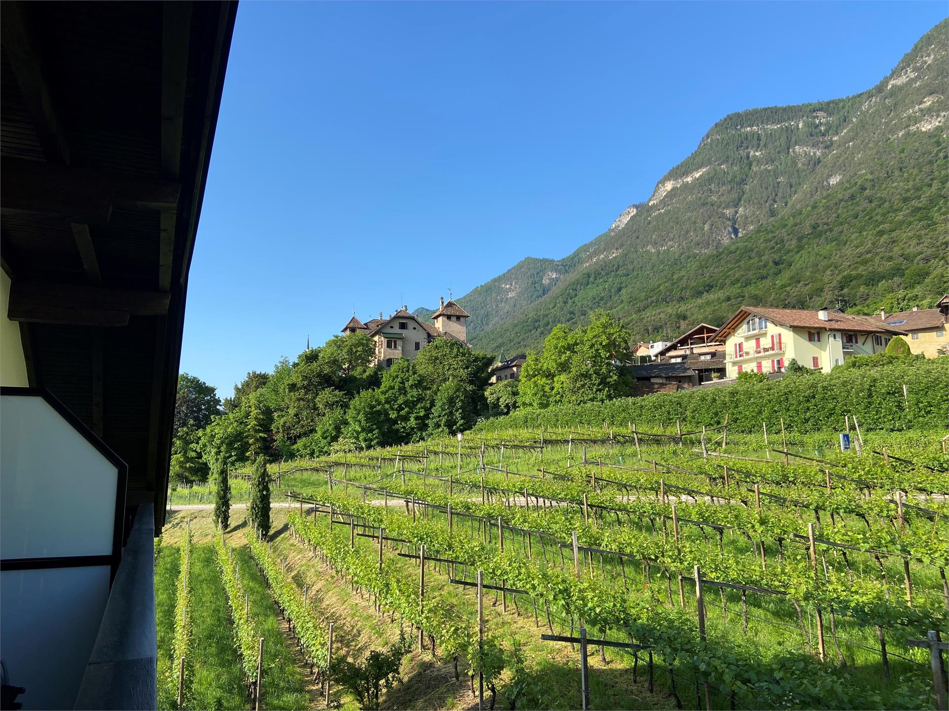
[[[906,386],[905,399],[903,385]],[[908,429],[946,427],[949,423],[949,357],[889,362],[879,367],[836,368],[829,374],[786,375],[763,383],[661,392],[605,403],[518,410],[480,422],[475,431],[507,428],[594,425],[625,428],[628,423],[658,425],[681,420],[690,426],[769,429],[781,417],[791,431],[841,429],[844,415],[856,415],[860,427]]]

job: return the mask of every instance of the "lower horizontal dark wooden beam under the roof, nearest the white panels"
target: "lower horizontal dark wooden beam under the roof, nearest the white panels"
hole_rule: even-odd
[[[37,323],[124,326],[129,316],[163,316],[169,295],[82,284],[17,280],[10,286],[8,318]]]

